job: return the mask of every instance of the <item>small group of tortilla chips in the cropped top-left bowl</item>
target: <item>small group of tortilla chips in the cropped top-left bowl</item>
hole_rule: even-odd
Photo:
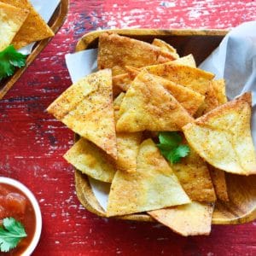
[[[54,36],[29,0],[0,0],[0,50],[13,44],[27,44]]]

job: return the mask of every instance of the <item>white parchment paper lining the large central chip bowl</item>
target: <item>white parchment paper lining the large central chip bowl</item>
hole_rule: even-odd
[[[96,71],[97,49],[66,55],[67,68],[74,82]],[[243,23],[229,32],[200,68],[226,80],[229,99],[253,91],[253,142],[256,145],[256,21]],[[104,210],[110,185],[90,178],[91,188]]]

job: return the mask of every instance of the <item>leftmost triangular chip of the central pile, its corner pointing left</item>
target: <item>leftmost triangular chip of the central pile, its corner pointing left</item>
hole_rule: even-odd
[[[117,158],[111,70],[73,84],[47,109],[67,127]]]

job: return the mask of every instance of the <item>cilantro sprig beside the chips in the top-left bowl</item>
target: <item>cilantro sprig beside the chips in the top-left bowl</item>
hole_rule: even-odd
[[[16,51],[13,45],[0,51],[0,81],[15,73],[16,67],[26,65],[26,55]]]

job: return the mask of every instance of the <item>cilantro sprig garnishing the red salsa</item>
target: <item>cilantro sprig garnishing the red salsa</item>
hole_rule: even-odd
[[[9,252],[15,248],[22,238],[26,237],[24,226],[15,218],[3,218],[3,226],[0,227],[0,250]]]

